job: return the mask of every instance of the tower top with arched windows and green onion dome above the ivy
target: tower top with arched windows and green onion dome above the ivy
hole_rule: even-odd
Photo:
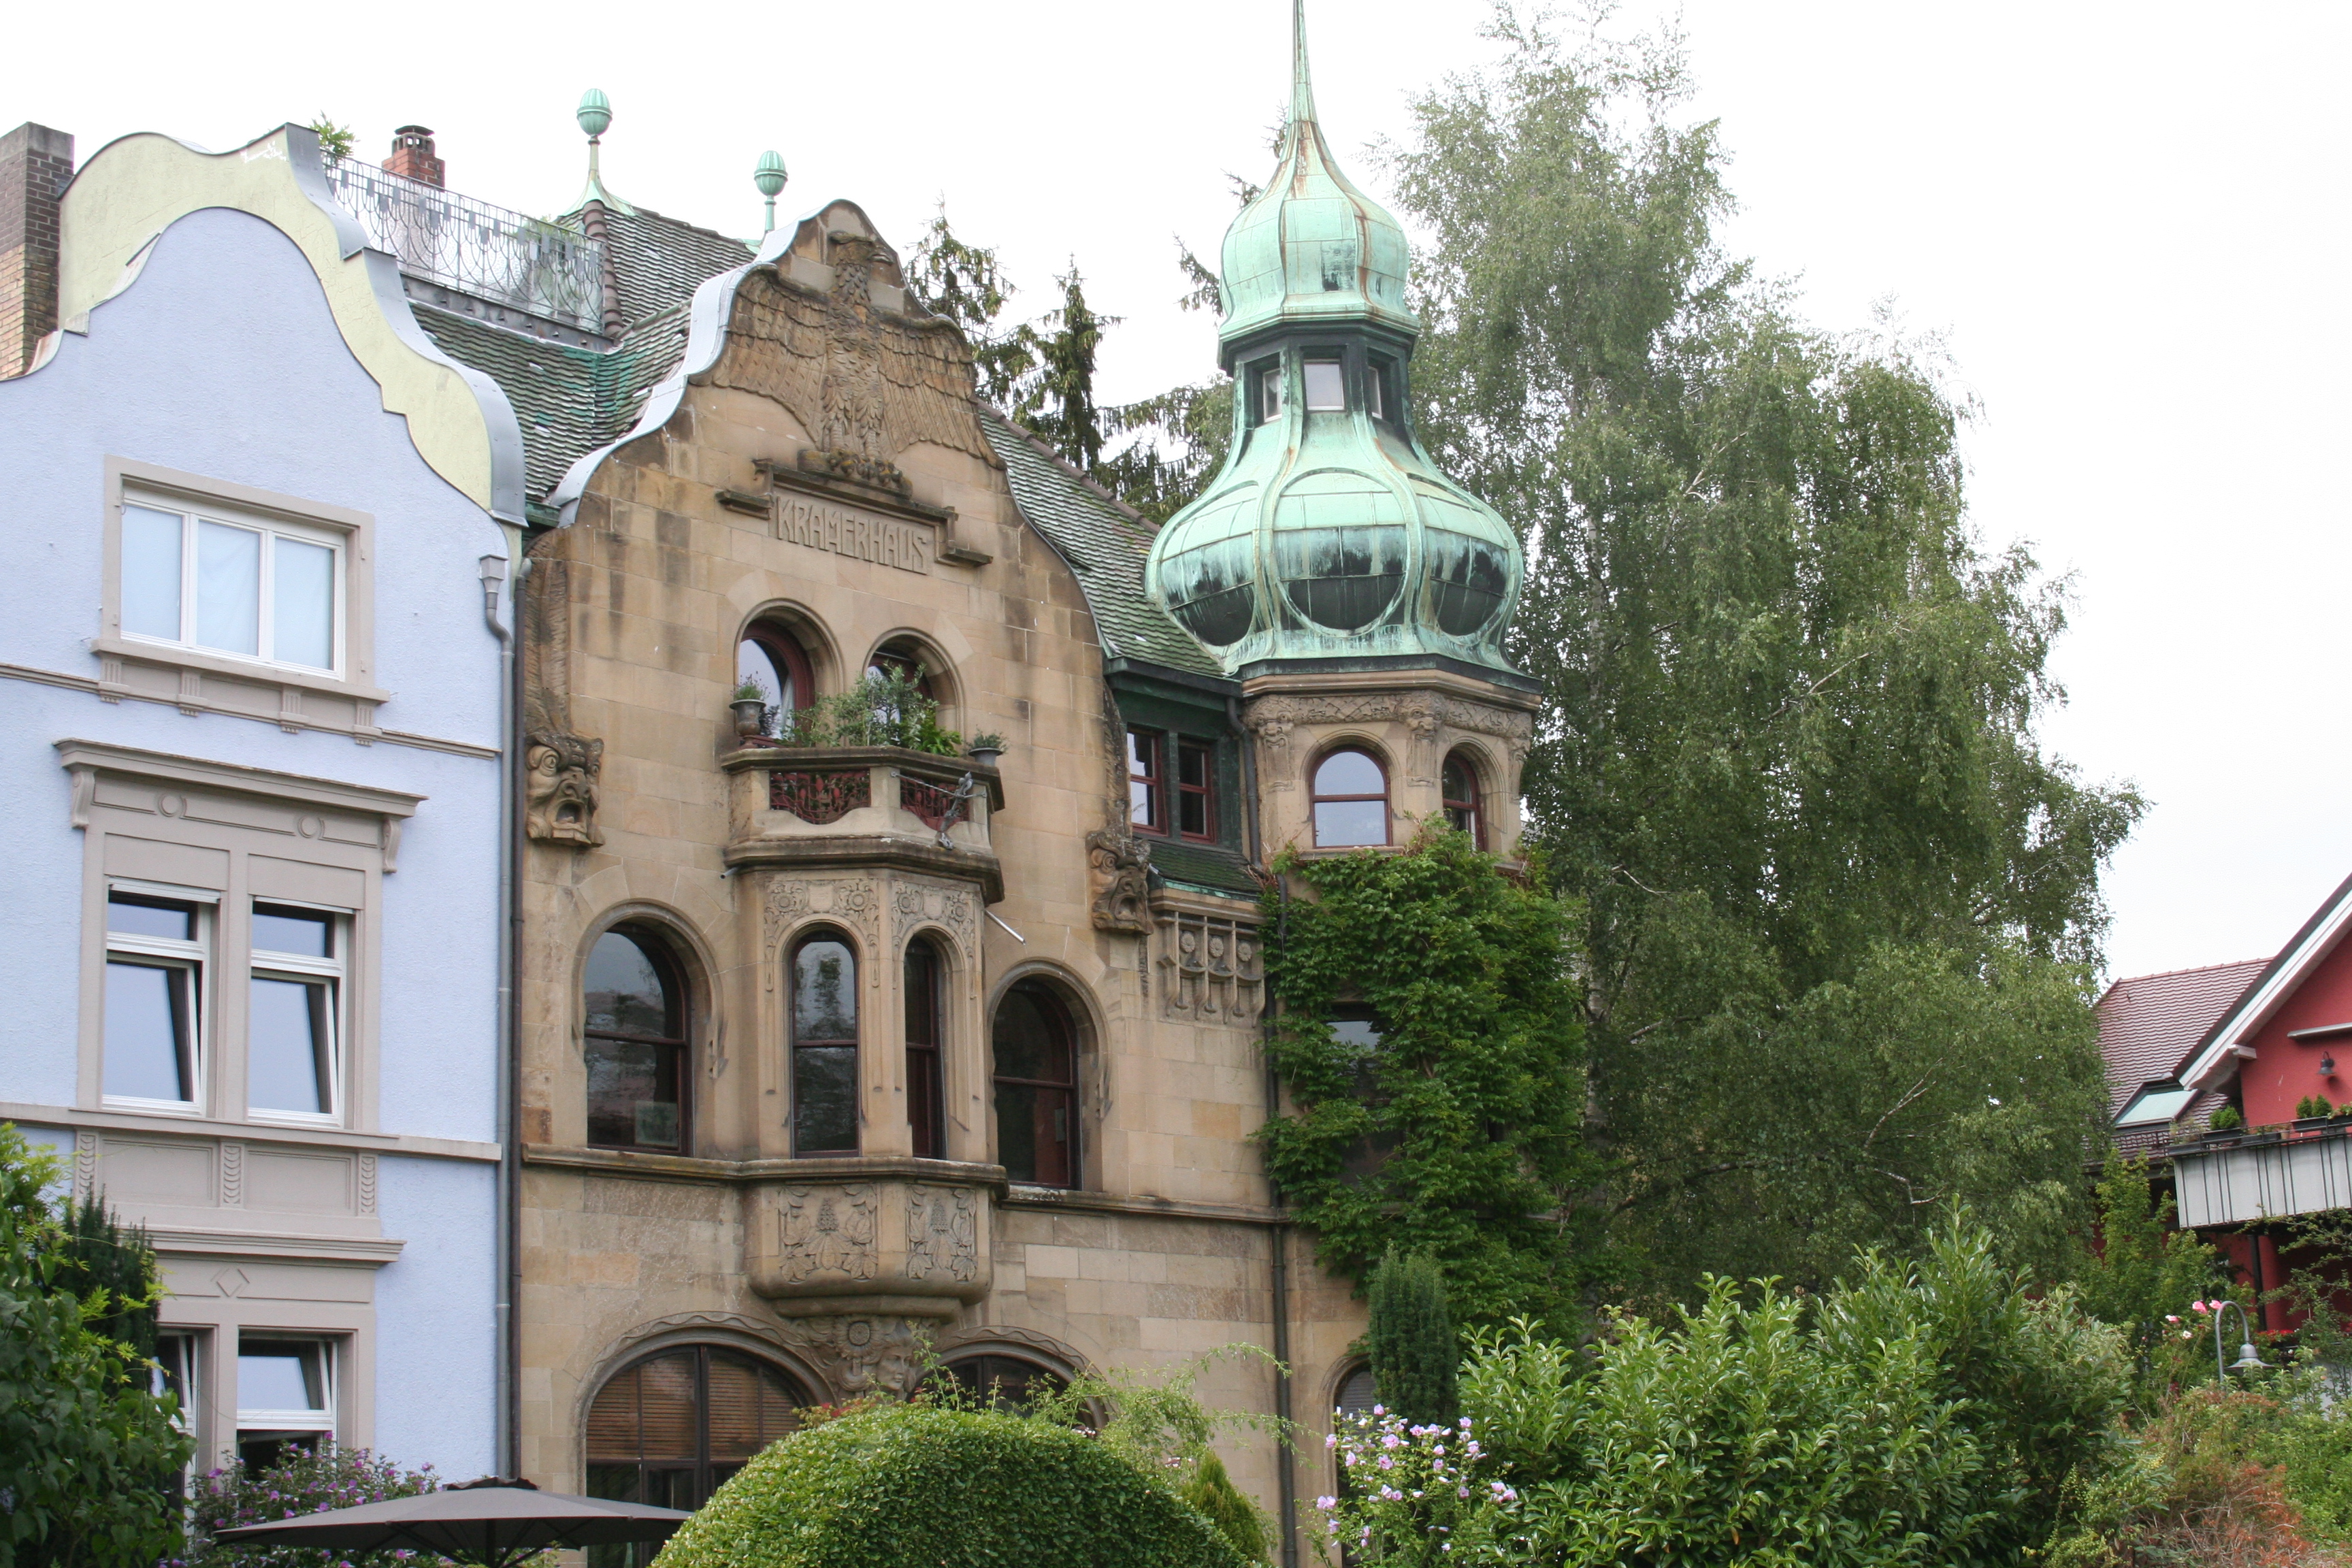
[[[1160,531],[1148,588],[1242,682],[1268,844],[1451,818],[1510,853],[1536,701],[1503,632],[1526,562],[1414,430],[1411,247],[1331,158],[1305,0],[1282,158],[1221,261],[1232,449]]]

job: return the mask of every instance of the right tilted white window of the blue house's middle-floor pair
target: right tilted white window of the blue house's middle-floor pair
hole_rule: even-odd
[[[343,966],[350,917],[254,903],[245,1009],[245,1103],[270,1121],[334,1124],[343,1114]]]

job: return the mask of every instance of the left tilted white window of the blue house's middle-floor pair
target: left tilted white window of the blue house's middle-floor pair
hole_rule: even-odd
[[[106,889],[108,1105],[195,1112],[205,1100],[205,971],[216,893],[113,882]]]

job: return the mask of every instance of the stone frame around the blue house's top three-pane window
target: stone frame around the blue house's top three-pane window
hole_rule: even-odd
[[[343,668],[341,672],[280,665],[238,654],[212,654],[205,649],[169,642],[148,642],[122,635],[122,503],[151,494],[158,501],[186,508],[219,508],[230,520],[278,522],[299,531],[334,534],[341,538],[341,609],[343,609]],[[205,675],[249,682],[254,686],[282,686],[292,691],[318,691],[360,703],[358,731],[374,729],[374,708],[390,701],[390,691],[376,686],[376,517],[348,505],[329,505],[303,496],[254,489],[207,475],[141,463],[136,458],[106,458],[103,498],[103,552],[99,567],[99,635],[89,639],[89,651],[101,661],[99,693],[122,696],[120,665],[136,661],[165,665],[183,672],[183,686],[202,682]],[[299,708],[296,708],[299,710]]]

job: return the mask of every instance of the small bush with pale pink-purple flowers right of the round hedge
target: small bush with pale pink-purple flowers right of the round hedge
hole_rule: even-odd
[[[1338,1549],[1371,1563],[1501,1561],[1519,1493],[1486,1455],[1472,1418],[1454,1427],[1411,1427],[1385,1406],[1338,1418],[1324,1446],[1338,1448],[1343,1495],[1315,1509]]]

